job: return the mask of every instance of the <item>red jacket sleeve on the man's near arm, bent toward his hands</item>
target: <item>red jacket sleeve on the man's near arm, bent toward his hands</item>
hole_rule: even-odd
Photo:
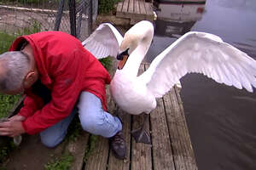
[[[23,122],[26,133],[39,133],[66,118],[79,98],[80,89],[78,87],[81,81],[79,60],[73,56],[73,59],[55,62],[59,62],[60,67],[52,69],[54,74],[52,75],[51,100],[41,110],[26,118]]]

